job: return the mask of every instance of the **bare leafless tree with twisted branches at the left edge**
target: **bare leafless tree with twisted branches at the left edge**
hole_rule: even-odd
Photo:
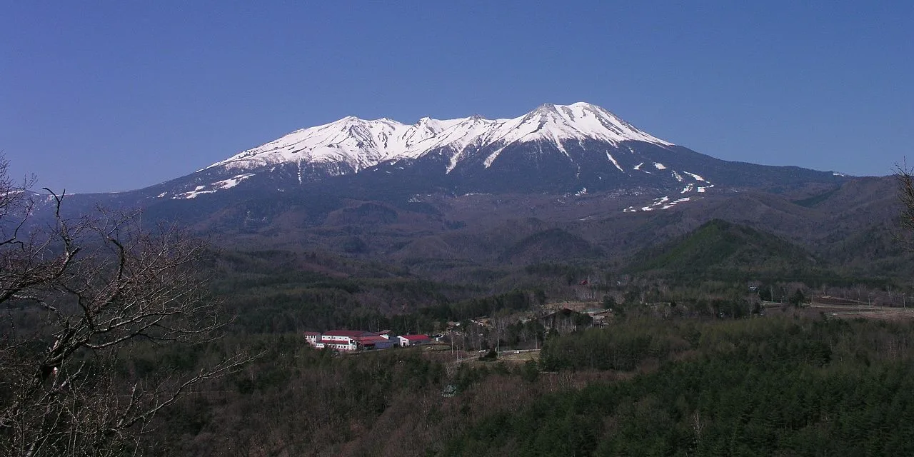
[[[205,293],[206,246],[140,214],[65,218],[0,157],[0,455],[135,452],[161,409],[250,358],[226,356],[176,375],[123,374],[140,345],[201,343],[228,322]],[[33,222],[44,205],[49,218]]]

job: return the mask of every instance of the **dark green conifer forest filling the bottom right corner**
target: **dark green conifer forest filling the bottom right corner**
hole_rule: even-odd
[[[642,325],[549,340],[541,367],[653,369],[486,416],[445,454],[914,452],[908,323],[771,318]]]

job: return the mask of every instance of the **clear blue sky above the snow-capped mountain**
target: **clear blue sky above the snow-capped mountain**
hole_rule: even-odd
[[[186,175],[346,115],[590,101],[704,154],[914,158],[914,2],[5,2],[0,150],[69,192]]]

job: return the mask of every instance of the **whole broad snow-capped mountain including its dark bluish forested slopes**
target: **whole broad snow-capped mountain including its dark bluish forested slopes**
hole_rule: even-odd
[[[643,215],[688,211],[745,190],[792,193],[852,179],[720,160],[579,102],[545,104],[514,119],[422,118],[407,125],[346,117],[155,186],[71,196],[67,207],[73,214],[100,205],[143,207],[145,220],[181,220],[213,233],[255,233],[277,218],[292,226],[320,225],[355,201],[437,214],[440,209],[423,206],[429,198],[466,202],[473,194],[491,194],[497,202],[511,194],[505,197],[599,200],[620,215]],[[46,207],[52,214],[53,205]],[[526,209],[534,214],[537,205]]]

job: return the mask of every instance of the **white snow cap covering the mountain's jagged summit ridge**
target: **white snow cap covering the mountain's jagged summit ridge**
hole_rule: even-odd
[[[350,116],[297,130],[207,168],[247,170],[288,162],[344,163],[357,172],[390,159],[417,158],[441,151],[450,154],[447,168],[450,173],[466,154],[484,147],[494,147],[494,152],[484,160],[487,167],[513,143],[549,143],[568,154],[562,143],[575,139],[579,143],[590,139],[614,144],[640,141],[664,147],[673,145],[638,130],[599,106],[585,102],[547,103],[515,119],[487,120],[472,116],[441,121],[425,117],[407,125],[390,119],[365,121]]]

